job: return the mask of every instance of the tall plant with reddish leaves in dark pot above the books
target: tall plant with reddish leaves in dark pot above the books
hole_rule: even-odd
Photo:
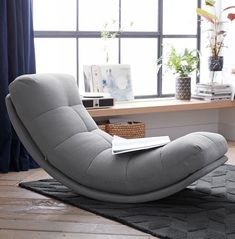
[[[210,9],[209,11],[202,8],[197,8],[197,14],[209,23],[208,33],[208,47],[210,48],[210,56],[208,59],[210,71],[221,71],[223,69],[223,56],[221,50],[224,47],[224,38],[226,31],[224,29],[224,13],[227,12],[226,18],[230,21],[235,19],[235,13],[230,12],[235,6],[228,6],[220,11],[216,8],[215,0],[205,0],[205,5]]]

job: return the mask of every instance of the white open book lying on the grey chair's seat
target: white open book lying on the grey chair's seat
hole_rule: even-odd
[[[124,139],[114,135],[112,141],[112,154],[122,154],[156,148],[168,144],[170,141],[169,136]]]

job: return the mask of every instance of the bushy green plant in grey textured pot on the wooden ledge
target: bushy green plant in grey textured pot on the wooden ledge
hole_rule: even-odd
[[[199,54],[197,50],[183,49],[178,53],[172,46],[166,60],[166,67],[176,77],[175,97],[178,100],[191,99],[191,77],[190,75],[198,70]]]

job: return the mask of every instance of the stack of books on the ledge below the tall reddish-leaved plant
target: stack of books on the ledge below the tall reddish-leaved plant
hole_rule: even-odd
[[[228,84],[197,84],[192,98],[208,101],[232,100],[232,87]]]

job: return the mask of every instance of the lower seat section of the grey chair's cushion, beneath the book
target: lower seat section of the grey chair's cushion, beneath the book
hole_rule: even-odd
[[[80,144],[79,138],[83,142],[87,138],[86,143]],[[87,150],[81,153],[84,147]],[[226,151],[223,136],[196,132],[160,148],[112,155],[111,143],[93,132],[74,136],[56,148],[48,160],[84,186],[134,195],[166,188],[213,163]]]

